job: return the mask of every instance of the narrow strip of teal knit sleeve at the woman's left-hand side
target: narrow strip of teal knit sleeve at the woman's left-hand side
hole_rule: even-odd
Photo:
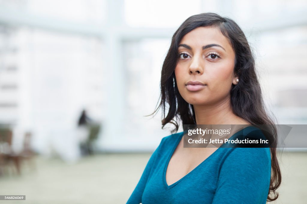
[[[164,138],[162,138],[160,145],[152,153],[149,161],[147,162],[147,165],[146,165],[146,167],[145,167],[145,169],[142,173],[142,176],[141,176],[137,186],[135,187],[134,191],[130,195],[130,198],[128,199],[127,204],[139,204],[139,203],[142,202],[142,195],[143,195],[148,177],[150,175],[150,171],[151,171],[152,166],[154,164],[154,161],[157,158],[157,154],[158,154],[159,150],[161,149],[161,144],[163,142],[163,139]]]

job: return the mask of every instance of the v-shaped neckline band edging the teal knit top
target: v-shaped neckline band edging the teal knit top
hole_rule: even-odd
[[[253,126],[248,126],[248,127],[253,127]],[[239,132],[243,131],[244,129],[248,128],[248,127],[245,127],[237,132],[235,132],[230,138],[234,137],[236,134],[239,134]],[[178,181],[176,181],[175,183],[171,184],[171,185],[168,185],[167,182],[166,182],[166,171],[167,171],[167,168],[169,166],[169,161],[171,160],[174,152],[175,152],[175,149],[177,148],[177,146],[179,145],[179,142],[181,141],[181,138],[183,137],[185,131],[182,132],[182,134],[178,137],[171,153],[169,154],[169,157],[165,163],[165,167],[164,167],[164,171],[163,171],[163,185],[165,187],[166,190],[169,190],[171,189],[172,187],[176,186],[178,183],[180,183],[183,179],[185,179],[186,177],[188,177],[189,175],[191,175],[194,171],[196,171],[197,168],[199,168],[201,165],[203,165],[204,163],[208,162],[208,160],[210,158],[213,157],[214,154],[216,154],[217,151],[219,151],[219,149],[221,148],[224,148],[224,147],[219,147],[218,149],[216,149],[212,154],[209,155],[209,157],[207,157],[204,161],[202,161],[200,164],[198,164],[198,166],[196,166],[192,171],[188,172],[185,176],[183,176],[181,179],[179,179]],[[230,139],[229,138],[229,139]]]

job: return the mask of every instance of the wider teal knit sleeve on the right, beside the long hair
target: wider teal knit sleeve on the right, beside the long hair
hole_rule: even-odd
[[[220,167],[212,204],[266,203],[270,175],[269,148],[234,148]]]

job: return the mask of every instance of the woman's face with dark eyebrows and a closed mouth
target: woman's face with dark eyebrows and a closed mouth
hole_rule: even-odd
[[[219,28],[198,27],[179,43],[175,67],[181,96],[192,105],[210,105],[230,97],[235,53]]]

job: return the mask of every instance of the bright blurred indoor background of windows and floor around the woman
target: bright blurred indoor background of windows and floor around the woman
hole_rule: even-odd
[[[240,25],[278,124],[307,124],[306,11],[304,0],[0,0],[0,195],[126,203],[172,128],[160,111],[144,117],[171,37],[198,13]],[[306,149],[279,158],[275,203],[304,203]]]

